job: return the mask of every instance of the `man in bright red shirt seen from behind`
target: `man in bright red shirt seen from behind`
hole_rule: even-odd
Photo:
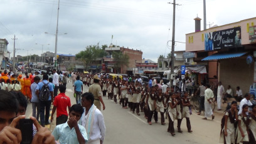
[[[66,123],[68,120],[68,111],[70,111],[70,98],[65,95],[66,86],[60,85],[60,94],[55,97],[53,101],[53,111],[51,113],[51,122],[53,121],[53,114],[55,113],[55,110],[57,109],[57,118],[56,118],[56,125],[60,125],[62,123]]]

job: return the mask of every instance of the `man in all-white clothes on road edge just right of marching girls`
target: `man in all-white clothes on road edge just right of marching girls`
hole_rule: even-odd
[[[210,85],[206,84],[206,90],[205,90],[205,118],[203,120],[207,120],[207,117],[211,116],[211,120],[215,118],[213,115],[213,110],[211,110],[211,103],[213,103],[213,91],[210,89]]]

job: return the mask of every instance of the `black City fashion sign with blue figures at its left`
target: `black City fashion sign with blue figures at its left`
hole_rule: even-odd
[[[240,47],[241,27],[205,33],[205,51],[216,51],[222,48]]]

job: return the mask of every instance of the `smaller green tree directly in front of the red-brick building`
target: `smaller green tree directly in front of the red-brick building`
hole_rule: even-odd
[[[124,69],[124,66],[129,66],[129,56],[127,54],[123,54],[120,51],[113,51],[112,56],[114,58],[115,64],[114,68],[117,69],[117,73],[119,73],[119,69]]]

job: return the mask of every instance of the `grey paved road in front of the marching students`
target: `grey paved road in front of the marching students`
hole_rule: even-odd
[[[84,92],[88,91],[88,87],[85,86]],[[73,98],[73,87],[71,83],[67,85],[66,95],[70,96],[72,105],[75,104],[75,98]],[[175,136],[171,136],[167,132],[168,120],[166,125],[160,123],[154,123],[152,125],[147,124],[147,120],[144,118],[144,114],[141,116],[134,115],[129,109],[122,109],[119,103],[115,104],[112,100],[108,100],[104,97],[104,103],[106,109],[102,111],[105,118],[106,136],[104,143],[218,143],[220,135],[220,121],[222,113],[215,113],[215,120],[201,120],[203,116],[196,115],[193,111],[191,115],[191,127],[193,133],[188,133],[186,130],[186,120],[183,120],[181,129],[183,133],[176,132]],[[32,115],[31,103],[28,104],[28,110],[26,116]],[[55,119],[56,120],[56,119]],[[159,118],[160,121],[160,118]],[[177,121],[174,121],[174,128],[176,130]],[[55,128],[55,122],[51,125],[51,130]]]

